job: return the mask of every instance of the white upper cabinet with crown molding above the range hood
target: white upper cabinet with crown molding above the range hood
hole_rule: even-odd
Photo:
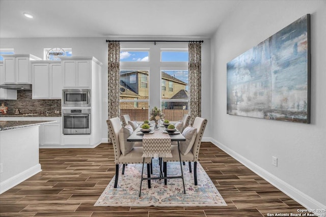
[[[30,70],[30,60],[41,60],[32,54],[12,54],[3,55],[4,76],[0,84],[31,84],[32,73]]]

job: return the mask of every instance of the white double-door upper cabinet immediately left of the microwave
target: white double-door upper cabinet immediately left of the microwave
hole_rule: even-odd
[[[32,98],[61,99],[61,63],[57,61],[31,61],[31,65]]]

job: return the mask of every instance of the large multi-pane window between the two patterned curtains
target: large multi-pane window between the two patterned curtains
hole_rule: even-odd
[[[120,47],[120,115],[144,121],[157,106],[166,119],[181,120],[188,113],[188,44],[128,42]]]

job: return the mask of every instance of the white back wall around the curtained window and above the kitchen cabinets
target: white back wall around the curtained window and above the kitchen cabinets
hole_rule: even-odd
[[[107,139],[107,43],[105,40],[108,38],[4,38],[1,39],[0,48],[14,48],[15,53],[31,53],[38,57],[43,58],[43,49],[44,48],[72,48],[73,56],[94,56],[101,63],[102,73],[102,138],[103,141]],[[113,38],[112,40],[119,40]],[[153,38],[123,38],[120,40],[155,40]],[[202,40],[202,39],[191,39],[191,38],[160,38],[157,40]],[[203,39],[204,43],[202,44],[202,82],[203,84],[209,84],[210,82],[210,40]],[[154,43],[152,43],[154,44]],[[158,43],[157,43],[158,44]],[[171,44],[174,46],[173,44]],[[121,47],[144,47],[144,43],[128,43],[121,44]],[[168,45],[165,45],[169,47]],[[187,46],[186,46],[187,47]],[[170,47],[173,48],[173,47]],[[205,96],[202,99],[202,117],[210,119],[210,86],[202,86],[202,96]],[[106,100],[106,101],[105,101]],[[209,121],[208,121],[209,124]],[[204,136],[209,135],[209,128],[207,127]],[[105,140],[107,141],[107,140]]]

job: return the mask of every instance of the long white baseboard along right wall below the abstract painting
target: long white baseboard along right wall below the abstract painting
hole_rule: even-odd
[[[214,140],[210,137],[203,137],[203,140],[209,141],[214,145],[221,148],[223,151],[228,153],[232,158],[239,161],[241,164],[249,168],[251,171],[268,181],[270,184],[274,185],[280,191],[282,191],[287,196],[291,197],[296,202],[300,203],[302,206],[306,207],[307,209],[317,210],[317,209],[326,209],[326,205],[321,204],[320,202],[316,201],[315,199],[311,198],[310,196],[304,194],[300,190],[294,188],[292,185],[286,183],[285,181],[281,180],[277,176],[271,174],[270,172],[264,170],[263,168],[259,167],[257,164],[251,162],[250,160],[244,158],[237,152],[233,151],[232,149],[228,148],[224,144]],[[324,212],[314,212],[316,214],[324,214]],[[320,216],[320,215],[319,215]]]

